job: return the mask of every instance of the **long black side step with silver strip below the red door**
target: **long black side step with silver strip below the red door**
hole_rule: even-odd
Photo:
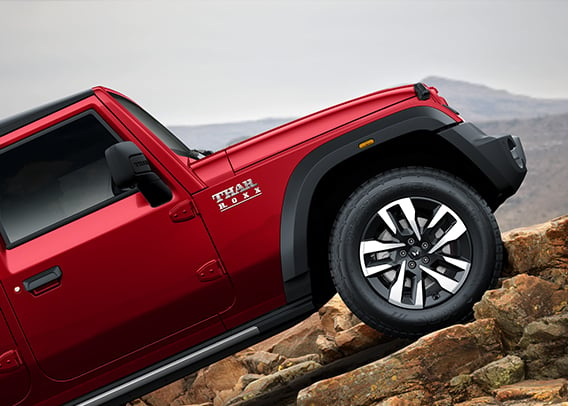
[[[311,297],[280,307],[64,406],[120,405],[279,333],[315,310]]]

